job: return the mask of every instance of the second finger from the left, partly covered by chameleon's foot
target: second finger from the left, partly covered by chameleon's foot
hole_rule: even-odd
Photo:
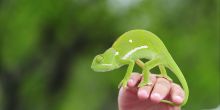
[[[146,100],[149,98],[151,90],[156,82],[156,75],[150,75],[150,83],[151,85],[143,86],[138,89],[138,98],[140,100]]]

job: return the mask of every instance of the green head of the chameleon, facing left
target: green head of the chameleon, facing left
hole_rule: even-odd
[[[118,68],[116,63],[116,51],[113,48],[106,50],[103,54],[95,56],[91,68],[97,72],[105,72]]]

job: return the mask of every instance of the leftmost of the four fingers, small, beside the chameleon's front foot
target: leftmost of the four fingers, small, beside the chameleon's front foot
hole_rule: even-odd
[[[128,80],[127,86],[132,88],[137,85],[138,82],[141,80],[141,74],[139,73],[132,73],[130,79]]]

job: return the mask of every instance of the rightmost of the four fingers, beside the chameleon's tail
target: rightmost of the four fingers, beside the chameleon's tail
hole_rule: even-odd
[[[181,104],[183,103],[184,96],[185,94],[184,94],[183,89],[179,85],[173,83],[171,87],[172,101],[176,104]]]

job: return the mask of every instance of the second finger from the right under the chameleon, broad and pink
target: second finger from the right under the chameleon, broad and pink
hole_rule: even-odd
[[[169,94],[170,88],[171,84],[168,80],[164,78],[158,78],[150,96],[151,100],[159,103]]]

